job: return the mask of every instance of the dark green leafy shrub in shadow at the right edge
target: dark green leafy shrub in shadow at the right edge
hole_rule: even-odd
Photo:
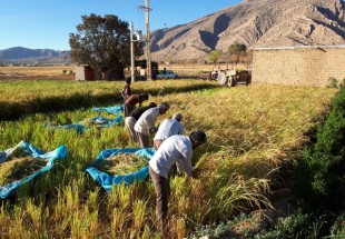
[[[316,143],[304,150],[295,167],[295,190],[306,203],[319,208],[344,206],[345,88],[318,129]],[[343,197],[342,197],[343,196]]]

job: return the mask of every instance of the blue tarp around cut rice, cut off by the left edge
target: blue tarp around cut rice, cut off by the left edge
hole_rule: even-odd
[[[22,150],[27,155],[31,156],[32,158],[41,158],[47,161],[46,166],[41,169],[37,170],[32,175],[28,176],[18,181],[13,181],[11,183],[0,186],[0,197],[6,199],[9,195],[20,187],[21,185],[32,180],[36,176],[40,175],[41,172],[48,171],[52,168],[53,161],[58,158],[66,158],[67,156],[67,148],[65,146],[60,146],[53,151],[45,153],[43,151],[39,150],[38,148],[33,147],[32,145],[21,141],[16,147],[7,149],[0,152],[0,163],[4,162],[14,151]],[[1,167],[1,165],[0,165]]]

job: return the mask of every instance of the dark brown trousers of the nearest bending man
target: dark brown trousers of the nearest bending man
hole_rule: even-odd
[[[155,172],[149,167],[150,177],[152,179],[156,192],[156,217],[159,226],[159,230],[162,235],[168,232],[168,200],[170,195],[169,179],[166,179]]]

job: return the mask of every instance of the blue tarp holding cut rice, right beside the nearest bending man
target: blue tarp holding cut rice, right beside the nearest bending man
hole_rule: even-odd
[[[125,149],[106,149],[101,151],[95,162],[89,166],[86,171],[91,175],[91,177],[107,191],[111,190],[114,185],[119,185],[124,182],[125,185],[131,185],[135,181],[140,181],[145,179],[148,175],[148,166],[132,173],[126,176],[108,175],[103,171],[96,169],[93,166],[101,162],[102,160],[119,155],[119,153],[136,153],[138,156],[145,157],[148,160],[155,155],[154,148],[125,148]]]

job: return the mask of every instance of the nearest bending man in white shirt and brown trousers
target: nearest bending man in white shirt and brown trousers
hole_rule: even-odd
[[[171,136],[158,148],[149,161],[149,173],[156,192],[156,216],[162,236],[167,233],[168,199],[170,193],[169,170],[176,163],[180,173],[193,177],[193,150],[207,141],[201,130],[188,136]]]

